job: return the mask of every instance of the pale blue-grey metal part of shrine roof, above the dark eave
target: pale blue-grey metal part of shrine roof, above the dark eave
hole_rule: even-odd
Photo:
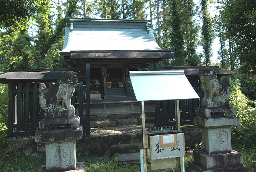
[[[149,28],[150,20],[68,20],[71,24],[66,27],[64,45],[60,51],[63,56],[70,57],[71,53],[76,51],[162,51],[156,43],[152,29]]]

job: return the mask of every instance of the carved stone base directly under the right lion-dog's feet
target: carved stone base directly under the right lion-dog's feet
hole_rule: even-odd
[[[236,115],[236,109],[231,107],[196,108],[196,114],[200,117],[210,118],[214,112],[218,112],[218,114],[223,117],[232,117]]]

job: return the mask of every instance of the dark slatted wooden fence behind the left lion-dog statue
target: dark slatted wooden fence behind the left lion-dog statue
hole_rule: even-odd
[[[46,83],[49,87],[52,84]],[[74,95],[71,98],[71,104],[79,103],[78,112],[80,116],[80,125],[84,125],[84,133],[89,127],[82,120],[83,102],[86,87],[83,82],[79,82],[79,86],[75,88]],[[13,83],[9,82],[9,115],[8,115],[8,135],[7,137],[27,137],[34,135],[38,130],[38,123],[44,119],[44,110],[40,108],[38,103],[39,83]],[[90,119],[90,118],[87,118]]]

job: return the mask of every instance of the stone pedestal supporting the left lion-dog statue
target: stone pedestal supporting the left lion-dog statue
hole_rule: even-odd
[[[76,141],[82,139],[82,126],[77,129],[52,129],[37,131],[36,142],[45,143],[46,165],[39,172],[84,172],[84,162],[76,162]]]

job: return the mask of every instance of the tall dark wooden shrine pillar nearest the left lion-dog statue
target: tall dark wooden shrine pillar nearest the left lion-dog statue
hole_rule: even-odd
[[[90,62],[86,62],[86,134],[90,134]]]

